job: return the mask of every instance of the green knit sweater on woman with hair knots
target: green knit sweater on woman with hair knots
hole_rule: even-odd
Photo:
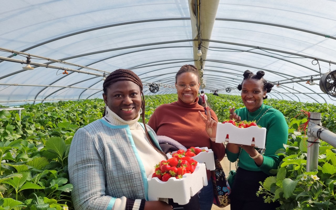
[[[242,120],[258,121],[269,108],[272,107],[262,104],[255,112],[249,112],[246,108],[242,108],[235,110],[235,113],[237,113]],[[283,148],[283,144],[287,143],[288,126],[284,115],[276,109],[269,109],[260,118],[257,124],[266,128],[266,146],[263,163],[258,167],[249,154],[243,150],[239,156],[238,167],[250,171],[263,171],[271,175],[269,170],[276,169],[280,163],[279,156],[275,154],[275,152]],[[258,148],[256,149],[258,150]],[[239,153],[236,154],[226,150],[226,155],[229,161],[235,162]]]

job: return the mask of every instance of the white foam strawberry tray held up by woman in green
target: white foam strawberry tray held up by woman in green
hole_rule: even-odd
[[[226,139],[228,135],[228,139]],[[216,143],[228,142],[234,144],[255,146],[259,149],[265,148],[266,128],[251,126],[238,128],[231,123],[217,125]]]

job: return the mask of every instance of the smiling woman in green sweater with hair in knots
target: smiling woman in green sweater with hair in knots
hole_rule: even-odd
[[[242,84],[238,85],[245,108],[230,109],[230,119],[256,121],[257,125],[266,128],[265,150],[254,146],[228,143],[226,155],[229,161],[235,162],[239,157],[238,169],[230,194],[231,210],[263,209],[274,210],[278,203],[264,203],[262,197],[257,197],[259,182],[274,176],[271,169],[277,169],[280,158],[276,153],[287,143],[288,126],[283,114],[263,103],[266,93],[271,91],[273,84],[267,82],[263,71],[253,74],[244,72]]]

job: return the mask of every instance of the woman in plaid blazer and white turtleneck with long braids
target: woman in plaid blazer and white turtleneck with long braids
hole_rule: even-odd
[[[68,168],[75,210],[172,209],[165,201],[145,201],[144,180],[167,156],[153,130],[144,124],[140,78],[130,70],[118,69],[104,81],[103,92],[102,119],[80,128],[70,147]]]

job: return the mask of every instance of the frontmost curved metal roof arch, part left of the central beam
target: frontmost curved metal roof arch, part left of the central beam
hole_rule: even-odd
[[[146,20],[136,20],[136,21],[122,22],[122,23],[115,23],[115,24],[110,24],[110,25],[103,25],[103,26],[99,26],[99,27],[94,27],[94,28],[90,28],[90,29],[86,29],[86,30],[77,31],[77,32],[74,32],[74,33],[69,33],[69,34],[64,35],[64,36],[56,37],[54,39],[47,40],[45,42],[42,42],[42,43],[39,43],[37,45],[31,46],[29,48],[20,50],[20,52],[26,52],[27,50],[31,50],[31,49],[34,49],[36,47],[39,47],[39,46],[42,46],[42,45],[45,45],[45,44],[48,44],[48,43],[51,43],[51,42],[54,42],[54,41],[57,41],[57,40],[61,40],[61,39],[68,38],[68,37],[71,37],[71,36],[74,36],[74,35],[78,35],[78,34],[85,33],[85,32],[90,32],[90,31],[94,31],[94,30],[99,30],[99,29],[103,29],[103,28],[110,28],[110,27],[115,27],[115,26],[129,25],[129,24],[136,24],[136,23],[144,23],[144,22],[171,21],[171,20],[190,20],[190,17],[146,19]],[[14,54],[8,56],[7,58],[11,58],[13,56],[14,56]],[[2,61],[0,61],[0,63],[1,62]]]

